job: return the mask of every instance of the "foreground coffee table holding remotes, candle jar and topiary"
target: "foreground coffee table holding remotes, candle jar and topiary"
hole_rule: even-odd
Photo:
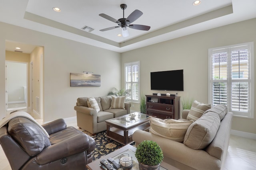
[[[110,154],[107,154],[106,156],[103,156],[100,159],[95,160],[94,162],[91,162],[90,164],[87,164],[86,168],[88,168],[88,170],[102,170],[102,168],[100,168],[100,160],[102,159],[108,160],[108,158],[112,158],[117,163],[119,163],[119,156],[125,153],[125,154],[129,154],[129,156],[132,157],[132,163],[133,163],[132,170],[139,170],[139,163],[135,157],[135,152],[136,152],[135,147],[131,145],[126,145],[118,150],[115,150],[114,152],[111,152]],[[122,169],[119,168],[118,170],[122,170]],[[178,168],[175,168],[174,166],[167,164],[166,162],[162,162],[160,164],[160,170],[178,170]]]

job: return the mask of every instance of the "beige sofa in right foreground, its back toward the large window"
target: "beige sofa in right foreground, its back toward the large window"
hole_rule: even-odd
[[[206,114],[211,114],[210,111],[206,112],[208,112]],[[189,110],[183,111],[183,120],[187,118],[188,113]],[[204,149],[192,149],[191,147],[186,146],[184,142],[180,143],[172,141],[142,130],[135,131],[132,139],[136,142],[136,145],[144,140],[156,141],[163,150],[164,162],[181,170],[220,170],[224,167],[228,152],[233,113],[228,112],[223,116],[224,118],[220,121],[220,126],[217,129],[213,141]],[[204,119],[204,115],[202,115],[202,118]],[[198,122],[200,122],[200,118],[194,123]],[[191,125],[193,125],[193,123]],[[188,131],[186,131],[186,135],[188,135],[187,133]],[[200,135],[198,134],[198,136]]]

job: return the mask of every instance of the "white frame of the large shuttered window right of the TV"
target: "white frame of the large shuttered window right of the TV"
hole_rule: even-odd
[[[238,80],[239,82],[248,82],[248,111],[232,111],[231,109],[231,83],[235,82],[236,80],[232,79],[232,71],[231,71],[231,59],[230,59],[230,54],[231,51],[238,50],[244,48],[244,46],[248,47],[248,80]],[[229,45],[225,47],[217,47],[217,48],[212,48],[208,49],[208,63],[209,63],[209,73],[208,73],[208,79],[209,79],[209,84],[208,84],[208,96],[209,96],[209,102],[213,104],[213,99],[212,99],[212,84],[214,82],[212,78],[212,55],[214,53],[221,53],[221,52],[227,52],[228,53],[228,60],[227,60],[227,80],[219,80],[219,82],[225,82],[227,83],[227,107],[228,111],[231,111],[234,113],[234,116],[236,117],[245,117],[245,118],[254,118],[254,43],[249,42],[249,43],[242,43],[242,44],[236,44],[236,45]],[[232,80],[232,81],[231,81]]]

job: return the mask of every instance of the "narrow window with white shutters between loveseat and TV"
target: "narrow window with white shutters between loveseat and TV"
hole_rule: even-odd
[[[125,89],[131,90],[131,95],[126,99],[130,102],[140,102],[140,62],[124,64]]]

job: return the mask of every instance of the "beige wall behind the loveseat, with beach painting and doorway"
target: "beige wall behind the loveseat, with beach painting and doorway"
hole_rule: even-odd
[[[0,117],[5,117],[5,41],[44,47],[44,121],[76,116],[78,97],[120,88],[120,53],[0,22]],[[70,87],[70,72],[101,75],[100,87]],[[0,118],[1,119],[1,118]]]

